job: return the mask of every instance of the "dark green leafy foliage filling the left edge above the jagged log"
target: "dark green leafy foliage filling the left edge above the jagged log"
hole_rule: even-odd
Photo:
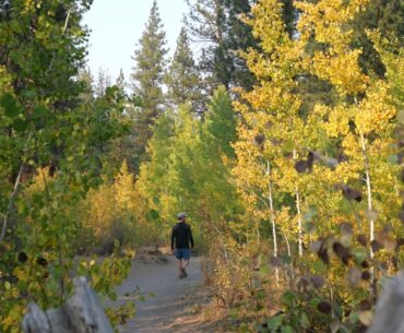
[[[75,209],[114,175],[124,96],[94,99],[78,80],[91,1],[12,1],[0,21],[0,331],[20,332],[28,301],[48,309],[71,296],[83,222]],[[88,76],[88,75],[87,75]],[[84,80],[84,78],[83,78]],[[86,96],[83,94],[86,93]],[[86,272],[112,296],[129,270],[114,257]],[[103,278],[99,282],[100,277]],[[128,312],[129,313],[129,312]]]

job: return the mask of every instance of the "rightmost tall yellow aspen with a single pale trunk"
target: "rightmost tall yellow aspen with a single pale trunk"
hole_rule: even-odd
[[[389,194],[388,200],[382,194],[395,187],[396,167],[389,165],[388,157],[394,153],[391,120],[396,110],[389,103],[389,84],[363,73],[358,61],[361,50],[352,49],[353,32],[346,29],[346,23],[366,4],[367,1],[319,1],[316,4],[299,2],[297,7],[301,10],[298,22],[301,40],[309,43],[311,34],[314,34],[317,43],[328,46],[306,57],[305,68],[332,84],[340,95],[337,104],[323,114],[323,119],[328,118],[323,126],[331,138],[341,140],[344,155],[348,158],[347,169],[365,174],[367,209],[363,216],[369,221],[369,239],[373,243],[376,221],[391,221],[389,210],[399,204],[397,197]],[[352,176],[344,177],[344,181],[357,178]],[[372,179],[383,181],[378,180],[378,186],[375,186]],[[376,197],[378,202],[375,202]],[[369,250],[373,258],[372,247]]]

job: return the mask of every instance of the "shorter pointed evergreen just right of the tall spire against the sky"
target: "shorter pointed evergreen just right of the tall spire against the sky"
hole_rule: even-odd
[[[181,28],[170,67],[165,78],[167,85],[167,104],[178,108],[190,102],[192,109],[202,111],[200,76],[189,45],[187,31]]]

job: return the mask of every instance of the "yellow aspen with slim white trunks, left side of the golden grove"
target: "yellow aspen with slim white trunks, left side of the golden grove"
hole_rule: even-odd
[[[277,1],[262,1],[253,8],[256,19],[248,21],[256,37],[262,40],[263,53],[251,50],[246,56],[260,84],[251,92],[242,92],[242,100],[236,102],[242,120],[239,124],[240,140],[236,144],[238,165],[235,175],[245,200],[248,197],[250,203],[256,203],[252,204],[254,216],[262,221],[268,219],[268,212],[272,216],[274,211],[270,205],[262,205],[262,198],[266,203],[273,201],[273,198],[269,200],[270,189],[273,193],[275,186],[271,179],[276,179],[280,192],[294,198],[295,207],[289,211],[290,217],[280,227],[288,238],[298,240],[297,252],[302,255],[301,193],[298,183],[305,176],[298,175],[295,169],[294,152],[296,157],[304,154],[304,122],[298,115],[301,102],[299,96],[293,94],[297,87],[294,78],[299,72],[302,49],[284,29],[281,11],[282,4]],[[268,163],[275,177],[269,177]],[[251,185],[256,187],[253,190]],[[266,213],[262,214],[260,206]],[[277,249],[274,253],[277,255]]]

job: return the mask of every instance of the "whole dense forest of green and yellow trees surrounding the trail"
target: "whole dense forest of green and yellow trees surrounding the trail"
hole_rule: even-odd
[[[178,212],[231,332],[365,332],[404,265],[404,2],[188,1],[168,57],[154,1],[116,82],[92,2],[0,0],[0,332],[78,275],[116,299]]]

